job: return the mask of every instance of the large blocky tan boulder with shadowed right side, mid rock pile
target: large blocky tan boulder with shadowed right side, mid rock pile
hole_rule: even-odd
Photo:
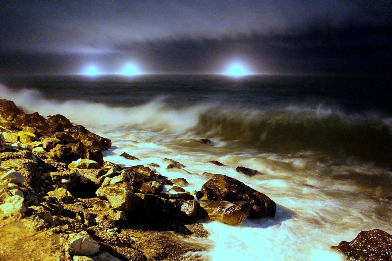
[[[130,215],[134,214],[142,203],[142,199],[128,188],[101,186],[96,191],[96,195],[100,198],[106,198],[114,209],[122,210]]]

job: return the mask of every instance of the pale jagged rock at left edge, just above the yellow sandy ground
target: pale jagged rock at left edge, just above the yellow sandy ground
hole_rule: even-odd
[[[0,188],[0,210],[6,216],[20,216],[26,212],[24,194],[17,189]]]

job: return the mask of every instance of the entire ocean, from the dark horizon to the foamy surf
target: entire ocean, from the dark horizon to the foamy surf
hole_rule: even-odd
[[[236,227],[205,221],[211,235],[199,243],[211,248],[198,254],[211,261],[339,261],[330,251],[339,241],[374,228],[392,233],[391,80],[2,76],[0,97],[27,112],[62,114],[111,139],[105,160],[156,163],[163,176],[187,179],[190,192],[208,180],[203,172],[225,174],[276,202],[274,218]],[[171,171],[163,158],[186,167]],[[260,174],[246,176],[238,166]]]

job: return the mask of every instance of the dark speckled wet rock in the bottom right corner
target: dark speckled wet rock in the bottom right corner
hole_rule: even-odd
[[[352,261],[392,260],[392,235],[379,229],[361,231],[351,242],[341,241],[332,250]]]

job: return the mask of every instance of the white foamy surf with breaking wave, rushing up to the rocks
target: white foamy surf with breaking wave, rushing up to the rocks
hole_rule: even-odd
[[[339,152],[337,160],[327,153],[330,151],[322,150],[340,143],[345,147],[339,148],[350,148],[359,138],[363,158],[381,155],[389,159],[388,147],[383,147],[390,142],[389,118],[379,114],[292,105],[266,109],[197,103],[176,108],[162,98],[113,107],[78,99],[58,102],[39,91],[0,88],[2,98],[31,112],[63,114],[111,139],[113,145],[105,152],[105,160],[123,166],[158,164],[156,170],[163,176],[187,179],[189,185],[184,188],[189,192],[200,190],[208,180],[204,172],[225,174],[277,203],[274,218],[247,219],[237,227],[205,221],[211,235],[201,243],[211,249],[200,255],[211,261],[338,261],[342,258],[330,246],[349,241],[362,230],[390,232],[389,169],[348,153]],[[320,130],[337,139],[314,142]],[[200,138],[209,138],[214,145],[193,141]],[[377,151],[371,150],[374,148]],[[140,160],[125,159],[120,156],[123,152]],[[166,169],[164,158],[186,167]],[[236,172],[238,166],[261,174],[246,176]],[[165,186],[165,190],[170,188]]]

